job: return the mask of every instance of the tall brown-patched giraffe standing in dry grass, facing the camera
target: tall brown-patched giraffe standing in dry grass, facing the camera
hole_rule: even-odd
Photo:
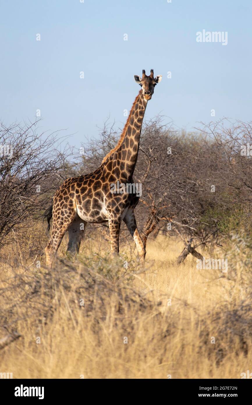
[[[47,266],[51,267],[57,249],[68,231],[67,252],[78,253],[87,222],[102,224],[108,222],[110,230],[111,254],[119,254],[119,232],[124,221],[138,249],[141,262],[144,263],[146,250],[134,215],[139,195],[134,188],[131,193],[112,192],[112,184],[133,185],[133,172],[138,159],[140,134],[148,100],[152,98],[154,87],[162,79],[154,78],[142,71],[142,78],[134,75],[141,86],[133,102],[129,117],[117,145],[105,156],[100,167],[93,173],[79,177],[70,177],[58,188],[53,204],[44,212],[51,237],[45,248]]]

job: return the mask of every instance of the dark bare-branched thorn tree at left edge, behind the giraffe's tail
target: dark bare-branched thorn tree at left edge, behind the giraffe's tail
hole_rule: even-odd
[[[39,134],[38,122],[0,123],[0,248],[17,226],[29,226],[61,181],[66,156],[55,148],[58,135]]]

